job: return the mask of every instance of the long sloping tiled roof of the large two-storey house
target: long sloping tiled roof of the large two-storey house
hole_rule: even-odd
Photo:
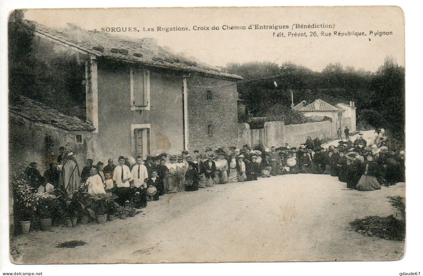
[[[157,50],[156,48],[152,50],[143,39],[78,29],[78,41],[80,41],[78,43],[78,41],[72,39],[74,37],[72,33],[75,30],[71,28],[52,28],[41,25],[38,22],[30,22],[35,25],[36,33],[99,57],[140,62],[150,66],[242,80],[242,77],[238,75],[228,74],[218,67],[176,54],[167,47],[158,46]]]

